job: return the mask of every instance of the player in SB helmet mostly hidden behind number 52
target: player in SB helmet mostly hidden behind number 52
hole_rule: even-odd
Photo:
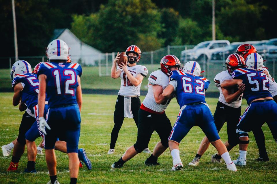
[[[244,57],[244,60],[246,60],[246,57],[251,53],[256,53],[257,50],[253,45],[250,44],[242,44],[240,45],[235,53],[238,53],[242,57]],[[270,76],[268,73],[267,68],[263,67],[264,73],[267,74],[269,78],[269,93],[272,95],[274,101],[277,103],[277,83],[275,82],[274,78]],[[257,146],[259,148],[259,158],[257,158],[257,161],[269,161],[269,158],[267,156],[267,151],[265,148],[265,135],[263,134],[263,130],[259,127],[255,127],[255,129],[252,130],[253,135],[255,137]]]

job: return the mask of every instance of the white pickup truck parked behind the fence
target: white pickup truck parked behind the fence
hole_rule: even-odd
[[[204,41],[197,44],[193,49],[181,51],[181,61],[210,60],[212,53],[222,50],[223,47],[231,45],[228,40]]]

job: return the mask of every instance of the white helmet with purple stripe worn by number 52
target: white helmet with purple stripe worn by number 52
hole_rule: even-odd
[[[258,53],[251,53],[246,57],[245,65],[247,69],[260,71],[263,69],[263,57]]]

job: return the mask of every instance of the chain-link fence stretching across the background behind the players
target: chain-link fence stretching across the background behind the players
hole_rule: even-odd
[[[143,52],[141,58],[143,60],[140,61],[142,65],[154,65],[160,64],[160,60],[164,55],[172,54],[177,56],[179,59],[181,58],[181,51],[192,49],[194,45],[177,45],[177,46],[167,46],[156,51],[148,51]],[[100,53],[98,55],[82,55],[82,59],[78,61],[74,60],[74,58],[80,58],[80,56],[71,56],[73,62],[78,62],[82,66],[95,66],[98,67],[99,76],[110,76],[111,67],[113,64],[113,60],[116,56],[116,53]],[[205,72],[203,75],[209,79],[210,81],[214,80],[214,77],[219,72],[226,70],[225,62],[227,56],[222,55],[222,58],[219,60],[208,60],[204,57],[203,60],[199,60],[201,70]],[[272,75],[273,78],[277,78],[277,66],[276,66],[276,58],[268,59],[264,62],[264,65],[268,68],[269,73]],[[46,56],[28,56],[28,57],[19,57],[19,60],[26,60],[28,61],[32,67],[34,67],[39,62],[47,61]],[[189,61],[189,58],[186,55],[182,56],[181,62]],[[0,57],[0,62],[2,64],[1,68],[11,68],[12,64],[15,62],[14,57]],[[211,88],[216,87],[211,85]]]

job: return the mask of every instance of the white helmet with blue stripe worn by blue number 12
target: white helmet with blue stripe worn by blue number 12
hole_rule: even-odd
[[[69,55],[68,45],[59,39],[49,43],[46,49],[46,55],[49,60],[67,60]]]

